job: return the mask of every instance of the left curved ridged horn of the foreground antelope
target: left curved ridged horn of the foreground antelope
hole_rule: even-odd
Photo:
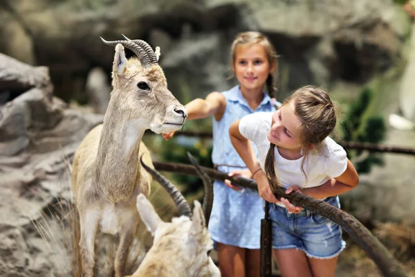
[[[140,157],[140,163],[147,172],[151,174],[151,176],[158,181],[158,183],[167,190],[167,193],[172,197],[174,204],[177,206],[177,211],[179,215],[185,215],[192,219],[192,210],[190,209],[189,204],[187,203],[185,197],[181,194],[180,190],[178,190],[174,184],[172,184],[169,180],[167,180],[163,175],[160,175],[156,170],[150,168],[142,161],[142,156]]]

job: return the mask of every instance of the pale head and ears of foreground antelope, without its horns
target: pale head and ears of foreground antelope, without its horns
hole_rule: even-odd
[[[213,242],[198,201],[194,201],[192,217],[174,217],[172,222],[163,222],[142,194],[137,197],[137,209],[142,222],[154,235],[153,247],[147,256],[154,255],[158,256],[158,260],[164,259],[164,262],[169,262],[169,265],[185,272],[185,276],[221,276],[209,256]],[[168,261],[167,257],[172,260]]]

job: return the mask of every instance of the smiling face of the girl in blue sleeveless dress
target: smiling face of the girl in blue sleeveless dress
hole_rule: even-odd
[[[232,70],[237,76],[242,92],[262,91],[268,74],[273,72],[274,68],[275,64],[268,62],[266,49],[260,44],[241,45],[235,49]]]

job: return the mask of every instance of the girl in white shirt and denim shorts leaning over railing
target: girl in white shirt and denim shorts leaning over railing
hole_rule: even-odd
[[[244,116],[230,126],[230,140],[270,203],[273,256],[282,276],[334,276],[344,249],[340,226],[276,199],[273,189],[299,191],[340,207],[338,196],[358,186],[358,173],[343,148],[329,138],[337,118],[329,94],[302,87],[272,112]],[[259,152],[252,150],[252,141]],[[298,251],[300,250],[300,251]]]

